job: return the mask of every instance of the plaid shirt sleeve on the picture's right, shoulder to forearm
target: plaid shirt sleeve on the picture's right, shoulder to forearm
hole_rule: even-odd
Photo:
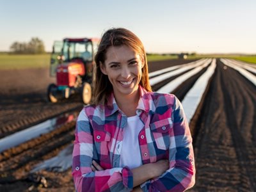
[[[141,184],[143,191],[185,191],[195,184],[195,163],[188,122],[179,99],[175,97],[173,132],[170,132],[170,168],[156,179]]]

